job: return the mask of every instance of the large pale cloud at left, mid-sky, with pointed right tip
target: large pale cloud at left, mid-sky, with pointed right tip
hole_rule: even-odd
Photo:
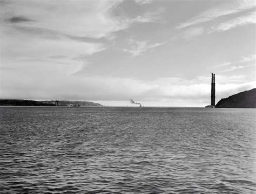
[[[11,27],[1,31],[8,34],[1,41],[1,68],[34,72],[32,77],[52,71],[71,75],[86,65],[80,56],[105,50],[100,43],[85,43],[65,37],[49,39],[37,34],[28,36]]]

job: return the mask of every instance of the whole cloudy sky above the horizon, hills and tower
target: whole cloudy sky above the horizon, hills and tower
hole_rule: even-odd
[[[0,0],[0,98],[204,107],[255,88],[255,1]]]

